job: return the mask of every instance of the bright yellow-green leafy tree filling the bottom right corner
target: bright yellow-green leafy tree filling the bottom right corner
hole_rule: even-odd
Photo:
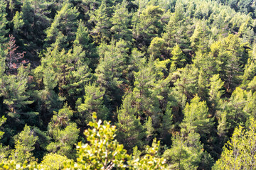
[[[255,169],[255,125],[251,118],[247,130],[242,126],[235,128],[213,169]]]

